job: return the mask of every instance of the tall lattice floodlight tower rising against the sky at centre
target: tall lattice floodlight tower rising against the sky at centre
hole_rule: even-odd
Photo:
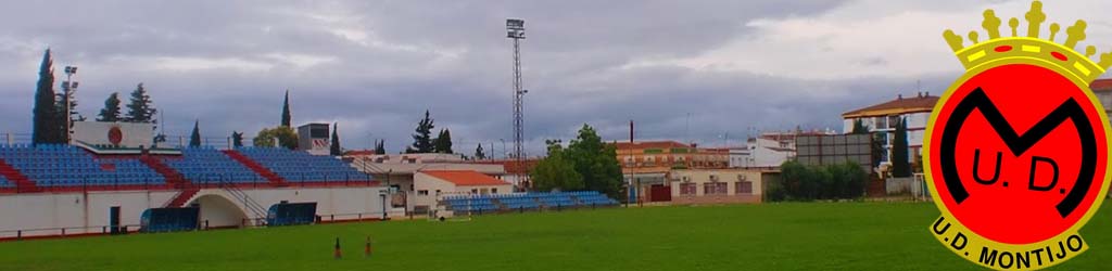
[[[517,172],[514,174],[517,177],[518,184],[524,182],[524,174],[520,172],[522,161],[524,159],[523,151],[523,140],[525,138],[525,121],[522,116],[522,107],[525,93],[528,90],[522,89],[522,46],[520,41],[525,39],[525,20],[522,19],[506,19],[506,38],[514,40],[514,159],[515,168]],[[527,187],[526,187],[527,188]]]

